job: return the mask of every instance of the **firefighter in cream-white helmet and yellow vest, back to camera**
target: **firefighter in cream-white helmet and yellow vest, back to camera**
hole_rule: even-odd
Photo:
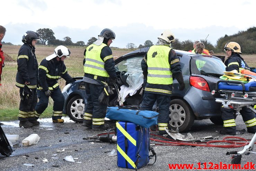
[[[174,34],[165,30],[156,45],[149,48],[141,62],[145,85],[142,110],[152,110],[155,102],[159,107],[158,130],[166,134],[165,127],[169,123],[170,96],[174,76],[180,84],[179,90],[185,88],[179,58],[169,46],[174,41]]]

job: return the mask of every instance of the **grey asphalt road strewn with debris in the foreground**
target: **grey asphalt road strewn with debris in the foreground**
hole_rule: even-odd
[[[62,124],[52,123],[51,119],[41,119],[39,126],[32,128],[18,127],[18,120],[3,122],[2,128],[5,134],[18,134],[20,143],[14,145],[14,152],[11,156],[5,157],[0,154],[0,171],[101,171],[101,170],[127,170],[117,167],[117,156],[109,156],[110,151],[116,151],[116,144],[99,142],[97,140],[86,140],[87,136],[94,136],[106,131],[92,131],[83,127],[80,123],[74,123],[68,118]],[[113,121],[106,121],[110,127],[114,126]],[[237,129],[246,129],[242,117],[236,119]],[[226,137],[218,131],[222,126],[214,125],[209,119],[196,120],[193,127],[188,131],[195,137],[219,136],[219,139]],[[38,134],[39,142],[31,146],[23,146],[21,141],[30,134]],[[155,132],[152,132],[155,133]],[[157,134],[157,133],[156,133]],[[187,133],[183,133],[186,135]],[[254,134],[246,132],[237,136],[251,139]],[[156,142],[152,142],[154,144]],[[223,144],[223,143],[222,143]],[[223,144],[224,145],[224,144]],[[231,155],[227,151],[241,151],[239,148],[217,148],[217,147],[192,147],[192,146],[153,146],[157,161],[154,165],[146,165],[140,171],[164,171],[170,170],[168,164],[194,164],[198,168],[209,168],[215,164],[230,164]],[[63,160],[66,156],[72,156],[75,162]],[[43,162],[47,159],[48,162]],[[152,162],[152,160],[150,160]],[[256,163],[255,154],[243,155],[241,165],[247,162]],[[32,165],[24,165],[32,164]],[[216,166],[216,165],[215,165]],[[214,169],[215,170],[215,169]],[[223,169],[222,169],[223,170]],[[253,170],[253,169],[249,169]]]

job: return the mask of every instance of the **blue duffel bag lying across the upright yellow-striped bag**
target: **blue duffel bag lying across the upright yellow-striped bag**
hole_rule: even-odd
[[[108,107],[106,118],[111,120],[126,121],[144,128],[157,125],[158,112],[139,110],[131,107]]]

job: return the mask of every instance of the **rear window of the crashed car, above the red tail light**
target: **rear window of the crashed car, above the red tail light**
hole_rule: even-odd
[[[220,77],[226,66],[221,60],[214,57],[198,56],[191,59],[191,73]]]

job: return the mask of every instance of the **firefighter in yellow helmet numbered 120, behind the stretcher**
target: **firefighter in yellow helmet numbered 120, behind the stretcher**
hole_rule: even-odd
[[[241,48],[240,45],[236,42],[228,42],[224,51],[226,52],[226,57],[228,58],[224,64],[227,66],[226,71],[237,70],[238,72],[244,69],[250,70],[244,59],[241,57]],[[223,129],[220,130],[220,134],[224,135],[236,135],[236,122],[234,109],[226,109],[221,107],[221,117],[223,119]],[[245,122],[247,131],[249,133],[256,132],[256,119],[254,112],[247,108],[243,107],[240,110],[240,114]]]

